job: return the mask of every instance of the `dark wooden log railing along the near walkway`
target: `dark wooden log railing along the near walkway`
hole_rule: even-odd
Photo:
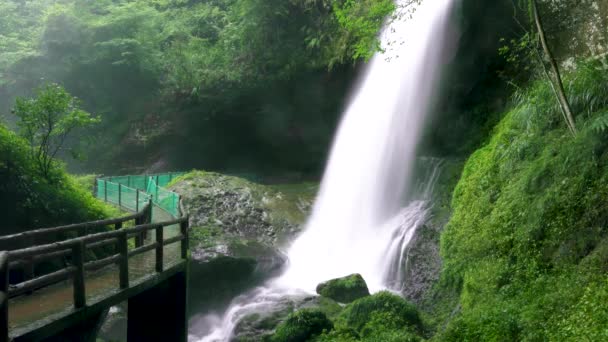
[[[50,284],[73,279],[73,304],[75,309],[84,308],[86,302],[85,290],[85,271],[97,270],[112,264],[118,264],[119,269],[119,288],[121,290],[129,287],[129,258],[151,250],[156,251],[155,270],[161,273],[164,270],[163,247],[169,244],[181,242],[181,258],[188,257],[188,217],[183,216],[162,223],[147,223],[136,225],[131,228],[122,228],[125,220],[141,218],[139,214],[123,217],[120,219],[89,222],[78,225],[39,229],[27,233],[1,237],[2,243],[17,241],[26,236],[48,236],[47,234],[57,234],[63,232],[86,232],[90,227],[101,227],[115,225],[116,230],[84,235],[55,243],[31,246],[27,248],[0,252],[0,315],[3,317],[0,322],[0,340],[8,338],[8,299],[25,293],[32,292]],[[180,233],[172,238],[164,239],[166,227],[178,224]],[[129,250],[128,239],[154,230],[155,241],[149,244],[136,245]],[[87,249],[98,248],[101,246],[115,246],[115,253],[101,260],[85,261]],[[57,257],[69,257],[71,262],[65,268],[49,274],[33,277],[21,283],[9,285],[9,270],[23,264],[48,261]]]

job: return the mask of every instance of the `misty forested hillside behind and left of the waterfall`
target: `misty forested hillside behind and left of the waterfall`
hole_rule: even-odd
[[[96,140],[85,167],[96,172],[133,170],[162,150],[176,169],[315,173],[358,60],[354,46],[371,48],[386,14],[376,1],[336,1],[346,27],[333,3],[0,0],[0,112],[41,79],[64,85],[103,117],[83,133]],[[204,162],[181,156],[176,135],[191,137]]]

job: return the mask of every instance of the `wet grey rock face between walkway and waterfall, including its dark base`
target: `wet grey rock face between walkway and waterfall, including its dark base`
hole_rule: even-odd
[[[192,315],[222,310],[237,295],[280,272],[279,245],[299,232],[315,184],[265,186],[196,171],[170,186],[190,215]]]

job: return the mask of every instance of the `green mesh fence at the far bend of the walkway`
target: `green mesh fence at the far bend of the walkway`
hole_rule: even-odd
[[[119,176],[97,179],[97,198],[119,205],[131,211],[143,209],[150,200],[173,217],[178,217],[179,195],[165,189],[173,179],[183,172],[155,175]]]

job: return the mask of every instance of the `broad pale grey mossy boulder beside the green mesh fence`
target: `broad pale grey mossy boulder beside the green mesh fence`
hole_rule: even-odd
[[[289,240],[305,222],[317,184],[262,185],[215,172],[193,171],[170,189],[182,196],[191,227],[266,244]]]

